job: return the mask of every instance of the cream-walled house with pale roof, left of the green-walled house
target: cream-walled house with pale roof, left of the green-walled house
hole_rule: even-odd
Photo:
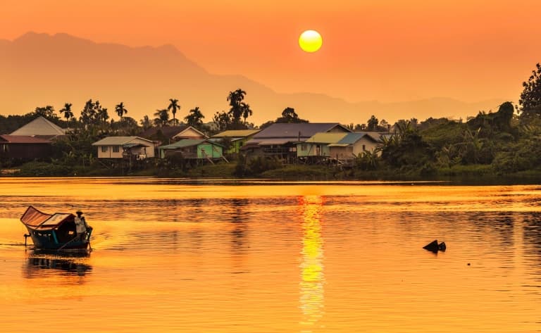
[[[92,146],[98,148],[98,158],[153,158],[154,143],[142,137],[105,137]]]

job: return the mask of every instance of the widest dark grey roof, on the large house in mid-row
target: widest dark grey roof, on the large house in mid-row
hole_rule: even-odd
[[[318,132],[330,132],[339,127],[343,132],[351,132],[338,122],[300,122],[300,123],[274,123],[261,130],[252,137],[254,142],[263,138],[302,138],[308,139]]]

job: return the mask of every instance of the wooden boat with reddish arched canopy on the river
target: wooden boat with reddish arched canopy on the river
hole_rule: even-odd
[[[20,218],[38,250],[87,250],[90,247],[92,228],[86,234],[75,232],[75,215],[71,213],[47,214],[29,206]]]

